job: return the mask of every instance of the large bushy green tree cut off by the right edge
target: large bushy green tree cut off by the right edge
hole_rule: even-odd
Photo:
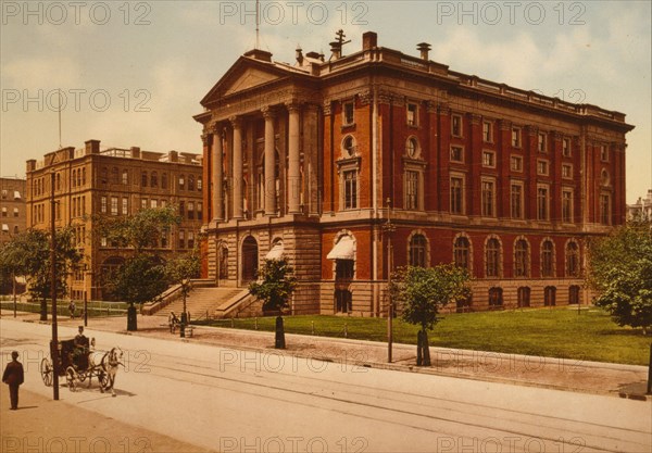
[[[652,223],[637,218],[589,244],[588,284],[593,303],[619,326],[652,326]]]

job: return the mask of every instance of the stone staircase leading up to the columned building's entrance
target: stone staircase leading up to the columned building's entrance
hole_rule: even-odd
[[[220,307],[225,304],[229,304],[234,299],[242,299],[249,294],[247,288],[192,288],[190,294],[186,299],[186,310],[190,312],[191,319],[205,318],[206,313],[209,317],[215,317],[216,312]],[[184,301],[178,298],[171,302],[168,305],[159,310],[154,316],[165,317],[170,315],[170,312],[176,313],[177,316],[184,311]],[[221,316],[220,316],[221,317]]]

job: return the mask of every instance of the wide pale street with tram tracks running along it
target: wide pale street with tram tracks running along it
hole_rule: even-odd
[[[3,365],[16,349],[25,390],[39,375],[50,326],[1,320]],[[75,330],[60,327],[61,338]],[[371,369],[206,344],[88,330],[120,345],[116,398],[97,382],[61,388],[60,404],[212,451],[618,451],[652,449],[650,402]],[[5,399],[7,389],[2,388]],[[5,412],[1,423],[12,424]],[[88,432],[79,432],[79,436]],[[116,432],[115,436],[118,436]],[[122,450],[114,450],[122,451]],[[138,451],[133,446],[131,451]]]

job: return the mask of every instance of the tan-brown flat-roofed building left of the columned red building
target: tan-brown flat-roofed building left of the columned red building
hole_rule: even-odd
[[[85,266],[70,277],[72,298],[105,299],[102,276],[129,253],[91,234],[97,215],[123,216],[174,204],[183,221],[161,238],[159,248],[165,253],[195,248],[204,221],[201,159],[137,147],[101,149],[100,141],[88,140],[83,149],[63,148],[40,162],[27,161],[27,226],[50,228],[53,181],[55,225],[74,227],[85,255]]]

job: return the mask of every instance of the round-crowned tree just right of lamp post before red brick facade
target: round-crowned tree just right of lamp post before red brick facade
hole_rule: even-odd
[[[402,309],[403,320],[421,326],[417,334],[417,365],[430,366],[428,330],[432,330],[437,324],[441,306],[468,297],[468,278],[466,269],[453,264],[408,266],[392,276],[390,292],[394,303]]]

